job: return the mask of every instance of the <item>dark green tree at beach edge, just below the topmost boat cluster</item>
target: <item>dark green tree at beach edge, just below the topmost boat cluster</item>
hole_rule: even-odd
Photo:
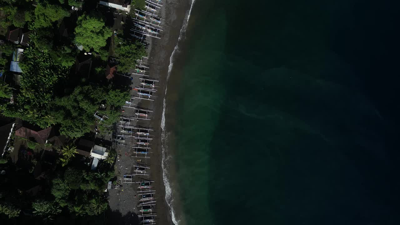
[[[115,49],[115,55],[119,58],[118,70],[128,72],[134,68],[136,60],[146,56],[146,49],[140,42],[122,41]]]

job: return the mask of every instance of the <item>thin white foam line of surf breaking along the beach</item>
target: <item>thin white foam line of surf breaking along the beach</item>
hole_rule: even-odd
[[[179,41],[182,39],[182,37],[184,37],[185,32],[186,32],[186,27],[188,26],[188,22],[189,22],[189,18],[190,18],[190,12],[192,12],[192,8],[194,5],[195,0],[192,0],[192,3],[190,4],[190,10],[188,12],[186,12],[183,24],[182,24],[182,28],[180,29],[180,34],[179,34],[179,38],[178,38],[178,42],[176,43],[176,46],[174,48],[174,51],[171,54],[170,57],[170,64],[168,66],[168,75],[167,75],[167,84],[168,84],[168,78],[170,77],[171,74],[171,70],[172,70],[172,66],[174,65],[174,56],[176,54],[176,52],[179,51]],[[167,93],[167,87],[165,88],[165,94]],[[161,135],[161,141],[162,141],[162,175],[163,175],[163,179],[164,179],[164,185],[165,185],[165,200],[168,204],[168,206],[171,209],[171,217],[172,217],[172,222],[175,225],[179,225],[180,220],[176,218],[175,215],[175,211],[174,211],[174,199],[172,196],[172,189],[171,189],[171,185],[170,185],[170,180],[169,180],[169,175],[168,175],[168,162],[170,161],[171,156],[166,156],[167,153],[167,138],[168,138],[168,134],[166,133],[165,130],[165,110],[166,110],[166,100],[164,97],[164,101],[163,101],[164,105],[163,105],[163,109],[162,109],[162,118],[161,118],[161,128],[162,128],[162,135]]]

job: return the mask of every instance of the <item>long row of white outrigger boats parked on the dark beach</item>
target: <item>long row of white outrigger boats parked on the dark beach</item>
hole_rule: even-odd
[[[158,16],[158,12],[162,6],[160,0],[145,0],[145,10],[135,10],[136,18],[134,20],[134,27],[131,29],[132,36],[139,39],[142,43],[147,36],[160,38],[160,32],[162,32],[162,18]],[[129,108],[130,112],[133,113],[129,117],[121,117],[118,126],[120,132],[116,135],[118,143],[125,144],[128,140],[134,140],[130,143],[130,153],[132,157],[138,158],[133,165],[132,171],[129,174],[124,175],[124,183],[132,183],[138,185],[136,193],[138,195],[137,214],[139,221],[142,225],[153,225],[156,224],[156,191],[154,190],[153,183],[147,179],[150,176],[150,167],[142,162],[141,158],[150,158],[151,155],[151,141],[153,135],[152,129],[149,126],[142,127],[138,125],[138,122],[150,121],[151,110],[148,108],[141,108],[138,106],[138,101],[149,100],[154,101],[157,96],[156,93],[157,82],[155,78],[150,78],[149,67],[147,63],[148,58],[143,57],[137,60],[136,68],[130,76],[141,76],[139,79],[139,85],[133,88],[135,91],[130,101],[126,101],[124,107]]]

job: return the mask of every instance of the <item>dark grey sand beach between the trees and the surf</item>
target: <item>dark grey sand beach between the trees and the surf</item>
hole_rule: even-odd
[[[137,121],[135,126],[149,127],[153,131],[150,135],[153,135],[151,141],[152,154],[150,158],[136,158],[132,157],[132,145],[135,139],[126,138],[126,146],[114,145],[118,157],[115,163],[115,172],[118,181],[123,181],[123,175],[126,173],[132,173],[133,165],[137,160],[141,159],[142,164],[145,164],[150,169],[147,171],[150,173],[149,176],[138,176],[136,175],[135,180],[147,179],[154,181],[152,186],[156,191],[156,206],[155,213],[156,223],[160,225],[173,224],[171,220],[170,209],[165,200],[165,186],[162,171],[162,129],[160,127],[162,120],[163,111],[163,99],[165,95],[165,88],[167,84],[168,66],[170,65],[170,56],[174,51],[174,48],[178,42],[180,30],[182,28],[185,15],[190,8],[190,0],[166,0],[163,3],[162,11],[160,16],[164,18],[162,22],[163,37],[161,39],[146,38],[146,42],[149,42],[150,52],[148,59],[144,61],[149,69],[149,78],[158,80],[156,93],[154,94],[154,101],[150,100],[135,100],[135,104],[140,108],[146,108],[151,110],[148,119],[150,121]],[[139,75],[132,75],[133,80],[132,88],[138,87]],[[132,90],[132,96],[136,94],[136,90]],[[124,108],[125,112],[122,112],[124,117],[132,117],[135,113],[132,108]],[[116,132],[118,132],[116,127]],[[122,183],[118,189],[111,189],[109,191],[109,205],[110,210],[106,213],[107,224],[118,224],[118,225],[136,225],[140,224],[138,219],[138,199],[139,196],[136,192],[139,184],[134,183]],[[152,189],[153,190],[153,189]],[[135,197],[136,196],[136,197]]]

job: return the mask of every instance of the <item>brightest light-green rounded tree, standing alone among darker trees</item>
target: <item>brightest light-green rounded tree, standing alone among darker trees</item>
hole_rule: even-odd
[[[78,18],[75,28],[75,42],[82,45],[86,51],[100,51],[106,46],[106,40],[112,35],[110,28],[104,25],[100,14],[82,15]]]

